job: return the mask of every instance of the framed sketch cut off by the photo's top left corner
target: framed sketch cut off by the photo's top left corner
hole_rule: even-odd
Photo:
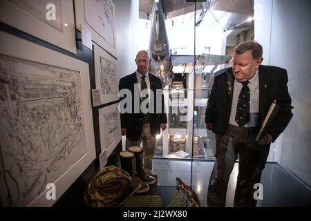
[[[77,53],[73,1],[1,0],[0,21],[73,54]]]

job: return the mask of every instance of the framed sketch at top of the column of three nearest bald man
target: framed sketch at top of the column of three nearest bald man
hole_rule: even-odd
[[[117,57],[113,0],[75,0],[77,30],[81,31],[82,24],[91,31],[93,41]]]

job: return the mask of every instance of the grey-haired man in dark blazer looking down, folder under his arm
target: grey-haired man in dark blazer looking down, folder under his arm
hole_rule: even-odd
[[[237,155],[239,167],[234,206],[256,206],[258,198],[254,196],[254,184],[261,180],[270,144],[292,118],[287,72],[283,68],[261,65],[262,55],[260,44],[254,41],[240,44],[234,50],[232,68],[223,69],[214,78],[205,113],[207,129],[216,134],[216,162],[207,193],[209,206],[225,206],[229,176]],[[238,115],[238,109],[243,108],[238,103],[241,90],[250,95],[248,104],[244,104],[247,107],[244,119]],[[261,140],[256,142],[259,128],[275,99],[280,106],[279,113]],[[239,122],[240,118],[243,122]]]

